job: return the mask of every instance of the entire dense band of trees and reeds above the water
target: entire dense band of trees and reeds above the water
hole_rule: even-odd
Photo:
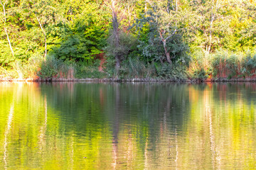
[[[253,0],[0,4],[1,77],[255,77]]]

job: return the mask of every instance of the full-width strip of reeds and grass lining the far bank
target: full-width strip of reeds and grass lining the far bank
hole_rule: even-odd
[[[214,54],[198,52],[191,55],[188,66],[145,63],[129,58],[122,62],[117,73],[114,60],[107,60],[99,71],[100,60],[90,64],[63,62],[55,57],[37,55],[28,62],[14,62],[0,67],[1,80],[34,81],[255,81],[256,53],[219,51]]]

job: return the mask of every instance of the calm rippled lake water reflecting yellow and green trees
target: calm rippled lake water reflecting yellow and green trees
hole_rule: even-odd
[[[253,169],[256,84],[0,83],[0,169]]]

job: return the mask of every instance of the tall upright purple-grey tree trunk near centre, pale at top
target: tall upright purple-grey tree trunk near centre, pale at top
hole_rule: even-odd
[[[119,23],[117,21],[117,11],[115,11],[114,9],[114,6],[115,6],[114,0],[112,0],[111,2],[112,2],[112,26],[113,26],[114,45],[115,47],[119,47],[120,45],[119,32],[118,32]],[[115,69],[118,73],[121,66],[121,56],[119,56],[119,54],[116,54],[114,58],[116,60]]]

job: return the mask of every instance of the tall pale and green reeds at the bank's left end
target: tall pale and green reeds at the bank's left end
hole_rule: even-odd
[[[11,67],[0,67],[1,79],[74,79],[74,64],[68,64],[55,57],[34,55],[27,62],[16,60]]]

